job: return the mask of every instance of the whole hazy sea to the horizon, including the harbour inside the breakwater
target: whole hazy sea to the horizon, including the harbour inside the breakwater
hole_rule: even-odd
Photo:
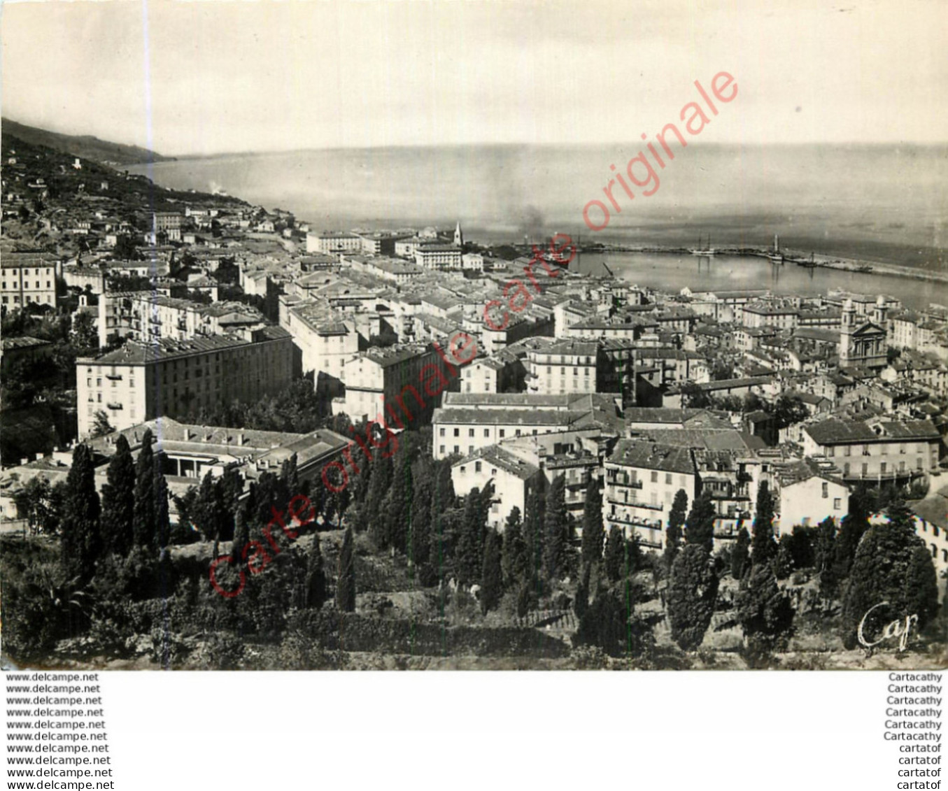
[[[948,145],[673,145],[665,168],[629,145],[465,145],[325,149],[183,157],[138,166],[173,189],[224,191],[254,205],[292,211],[320,229],[450,229],[480,243],[539,241],[566,233],[580,244],[771,244],[862,261],[948,271]],[[658,178],[629,198],[603,189],[646,153]],[[661,149],[659,153],[662,154]],[[641,167],[637,166],[641,176]],[[611,210],[593,231],[583,208]],[[591,210],[593,224],[602,222]],[[948,304],[948,284],[895,276],[775,266],[764,259],[610,254],[606,261],[642,286],[771,288],[818,294],[834,288],[885,293],[913,307]]]

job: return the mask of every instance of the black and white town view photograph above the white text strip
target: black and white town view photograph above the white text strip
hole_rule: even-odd
[[[4,669],[948,664],[942,3],[0,18]]]

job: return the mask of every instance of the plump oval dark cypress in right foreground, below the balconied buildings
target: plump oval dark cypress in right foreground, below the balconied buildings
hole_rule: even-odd
[[[671,638],[683,651],[694,651],[711,624],[718,599],[718,575],[702,543],[684,545],[671,566],[666,610]]]

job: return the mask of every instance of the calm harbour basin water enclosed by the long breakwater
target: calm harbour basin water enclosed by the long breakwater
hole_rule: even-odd
[[[603,261],[612,272],[629,282],[672,293],[687,286],[692,291],[770,289],[775,294],[815,296],[842,288],[858,294],[898,297],[916,310],[927,307],[930,302],[948,305],[948,283],[808,269],[791,263],[775,266],[764,259],[735,256],[707,259],[671,254],[586,254],[578,263],[578,271],[606,274]]]

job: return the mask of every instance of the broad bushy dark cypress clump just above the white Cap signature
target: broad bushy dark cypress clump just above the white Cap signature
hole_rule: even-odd
[[[876,611],[884,622],[917,615],[919,629],[938,612],[935,566],[915,533],[911,512],[896,500],[887,516],[888,524],[866,530],[849,571],[843,597],[843,639],[848,646],[856,644],[859,622],[876,604],[888,602]]]

